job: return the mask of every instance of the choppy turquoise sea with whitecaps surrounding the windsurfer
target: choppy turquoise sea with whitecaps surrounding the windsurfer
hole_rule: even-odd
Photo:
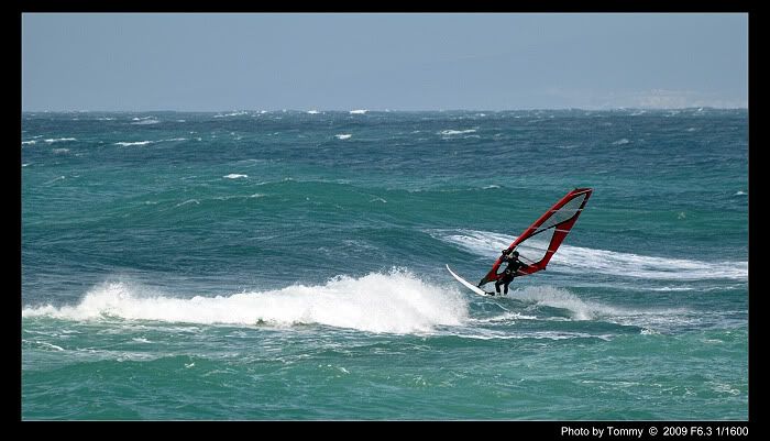
[[[23,113],[22,418],[747,419],[747,119]]]

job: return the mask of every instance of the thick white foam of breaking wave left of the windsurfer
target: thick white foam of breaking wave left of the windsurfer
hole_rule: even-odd
[[[468,300],[454,288],[427,284],[404,269],[354,278],[339,276],[323,285],[216,297],[175,298],[130,283],[92,288],[75,306],[26,307],[22,317],[66,320],[155,320],[187,323],[292,326],[318,323],[371,332],[426,332],[458,326],[468,318]]]

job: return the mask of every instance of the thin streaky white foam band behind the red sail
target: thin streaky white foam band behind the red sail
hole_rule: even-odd
[[[436,238],[455,243],[465,250],[496,258],[499,250],[510,245],[516,236],[486,232],[462,231],[460,234],[431,232]],[[569,241],[569,236],[566,239]],[[609,274],[618,277],[649,279],[698,280],[728,278],[748,279],[748,262],[702,262],[685,258],[645,256],[607,250],[594,250],[562,244],[548,266],[564,273]]]

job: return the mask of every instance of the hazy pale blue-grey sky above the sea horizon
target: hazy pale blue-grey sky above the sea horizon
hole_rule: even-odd
[[[23,111],[748,108],[747,13],[24,13]]]

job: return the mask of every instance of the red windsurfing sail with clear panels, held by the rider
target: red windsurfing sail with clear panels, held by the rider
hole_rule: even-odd
[[[519,260],[528,265],[518,271],[519,276],[546,269],[553,253],[575,224],[592,191],[593,188],[575,188],[568,192],[508,246],[508,252],[517,249]],[[502,263],[502,256],[497,257],[479,286],[497,280],[505,269],[501,268]]]

